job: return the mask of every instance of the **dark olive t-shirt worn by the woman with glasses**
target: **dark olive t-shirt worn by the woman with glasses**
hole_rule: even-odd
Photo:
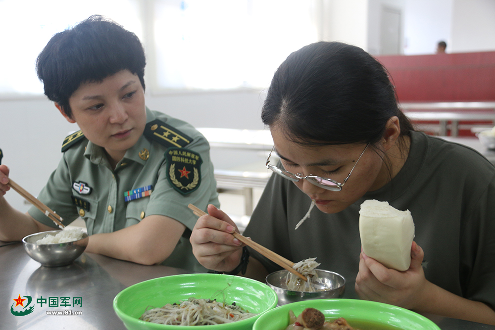
[[[297,230],[311,200],[292,182],[272,175],[244,235],[294,262],[316,257],[318,268],[345,277],[345,297],[357,298],[358,211],[366,199],[387,201],[411,212],[428,281],[495,308],[494,165],[464,145],[419,132],[411,138],[407,161],[391,182],[336,214],[315,207]],[[250,252],[269,272],[280,269]]]

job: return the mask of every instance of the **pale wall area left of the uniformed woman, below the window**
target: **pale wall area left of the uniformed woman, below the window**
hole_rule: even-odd
[[[2,164],[10,168],[10,178],[37,195],[58,165],[64,137],[77,129],[48,99],[0,101]],[[21,211],[26,211],[30,205],[24,204],[24,199],[14,190],[5,198]]]

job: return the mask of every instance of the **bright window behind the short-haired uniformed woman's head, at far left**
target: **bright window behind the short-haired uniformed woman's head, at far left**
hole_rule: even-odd
[[[112,18],[138,37],[142,35],[135,0],[0,0],[0,93],[43,94],[36,58],[51,36],[91,15]]]

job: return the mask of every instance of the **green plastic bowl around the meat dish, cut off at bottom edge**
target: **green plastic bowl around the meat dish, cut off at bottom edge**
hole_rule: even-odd
[[[282,305],[261,315],[252,330],[284,330],[289,325],[289,310],[299,315],[308,307],[320,310],[327,321],[343,317],[358,329],[440,330],[431,320],[410,310],[358,299],[315,299]]]

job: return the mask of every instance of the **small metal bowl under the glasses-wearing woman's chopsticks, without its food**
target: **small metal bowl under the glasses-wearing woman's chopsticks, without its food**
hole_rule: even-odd
[[[289,290],[286,286],[287,275],[289,271],[281,270],[269,274],[265,281],[278,296],[278,306],[289,304],[291,302],[310,300],[310,299],[327,299],[327,298],[342,298],[346,289],[346,279],[340,274],[315,269],[320,282],[327,289],[316,292],[300,292]]]

